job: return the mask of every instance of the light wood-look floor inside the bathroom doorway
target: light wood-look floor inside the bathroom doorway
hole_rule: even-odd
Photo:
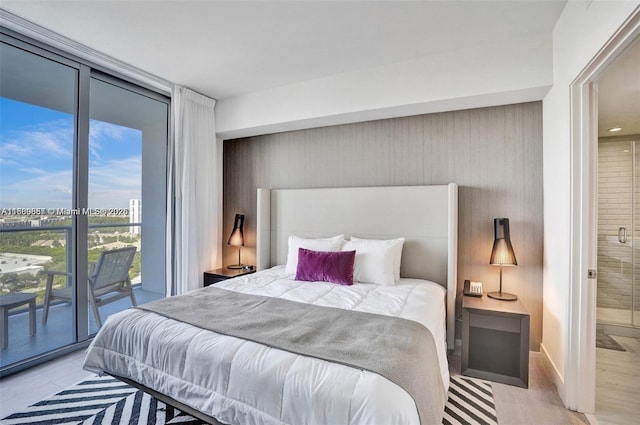
[[[640,423],[640,339],[612,336],[627,351],[596,348],[598,425]]]

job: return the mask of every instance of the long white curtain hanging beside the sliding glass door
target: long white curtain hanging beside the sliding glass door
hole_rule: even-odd
[[[216,101],[176,86],[169,147],[167,293],[201,288],[221,258],[222,149]]]

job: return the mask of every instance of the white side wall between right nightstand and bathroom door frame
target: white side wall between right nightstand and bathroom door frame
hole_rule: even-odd
[[[639,3],[636,0],[568,2],[553,32],[553,87],[543,99],[542,349],[555,369],[556,384],[565,403],[571,278],[570,87]]]

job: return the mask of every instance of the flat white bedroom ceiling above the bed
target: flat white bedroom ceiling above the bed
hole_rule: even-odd
[[[16,1],[2,8],[215,99],[550,34],[550,1]]]

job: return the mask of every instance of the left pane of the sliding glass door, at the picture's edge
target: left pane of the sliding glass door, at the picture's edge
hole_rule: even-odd
[[[0,302],[9,308],[1,366],[77,341],[73,309],[56,309],[35,334],[29,297],[44,303],[47,270],[73,287],[73,169],[79,70],[20,46],[0,45]],[[72,305],[72,299],[69,305]]]

